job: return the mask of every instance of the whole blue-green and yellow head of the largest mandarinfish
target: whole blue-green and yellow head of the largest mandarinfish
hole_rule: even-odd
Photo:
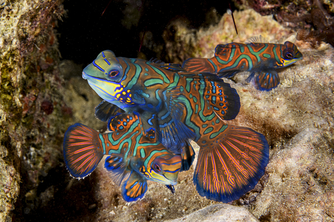
[[[123,76],[123,67],[114,52],[110,50],[100,52],[98,57],[82,72],[82,78],[87,79],[95,92],[104,100],[115,105],[120,105],[122,101],[119,97],[124,96],[123,91],[125,90],[121,83]]]

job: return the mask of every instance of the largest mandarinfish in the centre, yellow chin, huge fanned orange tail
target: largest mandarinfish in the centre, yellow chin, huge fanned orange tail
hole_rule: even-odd
[[[246,127],[227,125],[240,109],[234,88],[217,75],[186,72],[180,65],[116,57],[101,52],[82,72],[105,101],[96,116],[109,122],[119,113],[138,112],[144,130],[157,135],[171,152],[182,154],[189,169],[199,146],[193,182],[201,196],[229,202],[254,188],[269,161],[265,137]],[[112,127],[122,127],[108,124]]]

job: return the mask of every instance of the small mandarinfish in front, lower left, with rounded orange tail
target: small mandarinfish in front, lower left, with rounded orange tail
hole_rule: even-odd
[[[80,123],[68,127],[63,153],[73,177],[88,176],[107,155],[105,168],[110,178],[122,186],[123,199],[128,202],[144,197],[147,180],[168,188],[177,184],[181,155],[171,153],[156,138],[150,137],[143,130],[138,114],[121,114],[111,122],[120,123],[122,127],[104,134]]]

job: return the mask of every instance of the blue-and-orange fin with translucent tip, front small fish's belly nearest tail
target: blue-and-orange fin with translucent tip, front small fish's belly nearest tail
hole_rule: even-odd
[[[126,171],[127,166],[128,161],[124,160],[124,156],[121,153],[113,153],[105,161],[108,175],[117,186],[120,186],[123,179],[128,176],[129,171]]]

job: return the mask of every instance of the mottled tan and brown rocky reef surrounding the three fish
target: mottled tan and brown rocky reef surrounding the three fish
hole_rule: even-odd
[[[60,61],[55,29],[65,12],[61,3],[0,1],[0,221],[334,221],[331,45],[298,41],[294,30],[251,9],[234,12],[239,35],[228,14],[199,30],[182,19],[171,22],[163,34],[169,62],[212,57],[217,44],[260,34],[269,42],[294,42],[304,57],[279,70],[281,84],[270,92],[246,82],[249,73],[226,80],[241,100],[229,123],[263,133],[271,147],[254,190],[234,206],[207,200],[192,183],[193,166],[179,174],[175,195],[149,181],[146,196],[127,204],[102,163],[82,180],[71,178],[63,163],[69,125],[100,132],[106,125],[94,117],[101,99],[81,78],[82,67]]]

